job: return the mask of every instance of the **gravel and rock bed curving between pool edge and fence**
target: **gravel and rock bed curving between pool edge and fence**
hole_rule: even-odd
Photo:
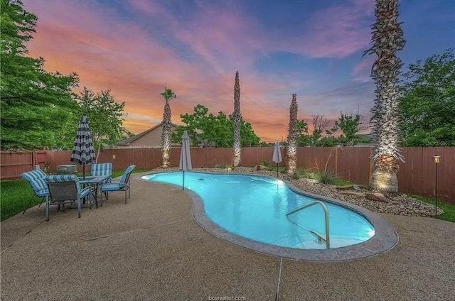
[[[228,170],[226,170],[225,168],[194,168],[193,170],[212,173],[228,173]],[[246,167],[237,167],[235,168],[235,170],[232,171],[232,173],[248,173],[277,177],[276,171],[256,170],[255,168]],[[323,195],[326,197],[333,197],[335,199],[340,199],[345,202],[357,204],[373,212],[405,215],[410,217],[434,217],[433,205],[420,202],[419,200],[413,199],[412,197],[408,197],[407,195],[403,194],[386,195],[387,201],[381,202],[368,199],[364,196],[343,195],[340,193],[341,190],[338,190],[336,188],[336,185],[324,185],[317,180],[312,180],[304,177],[296,180],[290,177],[289,175],[285,175],[283,173],[279,173],[279,178],[291,182],[293,185],[299,187],[299,189],[304,190],[306,192],[311,192],[316,195]],[[368,189],[366,189],[365,187],[356,188],[357,190],[355,190],[355,192],[360,192],[360,194],[368,192]],[[444,211],[438,208],[438,214],[442,213],[444,213]]]

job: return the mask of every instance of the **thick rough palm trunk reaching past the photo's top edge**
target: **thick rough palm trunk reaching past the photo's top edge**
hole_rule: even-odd
[[[400,28],[397,0],[376,0],[376,23],[372,27],[373,46],[365,54],[375,54],[371,77],[375,80],[373,116],[373,175],[370,187],[382,192],[398,192],[398,160],[403,160],[400,142],[397,80],[402,62],[397,51],[405,46]]]

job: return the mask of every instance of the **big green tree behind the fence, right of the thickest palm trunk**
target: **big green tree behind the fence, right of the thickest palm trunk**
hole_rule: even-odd
[[[454,48],[408,66],[400,85],[404,146],[455,146]]]

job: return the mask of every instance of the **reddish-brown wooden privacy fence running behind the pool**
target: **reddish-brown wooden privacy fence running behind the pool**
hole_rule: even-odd
[[[298,148],[297,166],[302,169],[331,170],[352,182],[368,184],[373,168],[370,156],[373,148]],[[273,148],[242,148],[242,165],[272,163]],[[398,183],[400,192],[434,197],[436,168],[432,160],[441,155],[438,165],[438,198],[455,204],[455,147],[403,148],[405,163],[400,163]],[[180,148],[171,149],[171,165],[178,166]],[[284,165],[285,150],[282,148]],[[0,152],[1,179],[20,177],[34,165],[47,167],[51,173],[58,165],[70,164],[71,151]],[[109,148],[101,151],[98,162],[112,162],[114,170],[134,164],[147,170],[160,165],[159,148]],[[191,148],[194,168],[216,168],[232,164],[232,148]],[[80,171],[81,168],[79,168]]]

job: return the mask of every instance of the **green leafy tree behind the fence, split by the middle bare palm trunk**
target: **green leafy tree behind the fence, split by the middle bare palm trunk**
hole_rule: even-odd
[[[193,114],[181,114],[184,125],[177,126],[172,133],[172,141],[181,142],[183,131],[188,131],[193,146],[217,146],[232,147],[233,143],[233,116],[228,116],[223,111],[214,115],[208,112],[203,104],[197,104],[193,108]],[[259,137],[256,136],[250,123],[242,119],[240,144],[245,146],[259,145]]]

